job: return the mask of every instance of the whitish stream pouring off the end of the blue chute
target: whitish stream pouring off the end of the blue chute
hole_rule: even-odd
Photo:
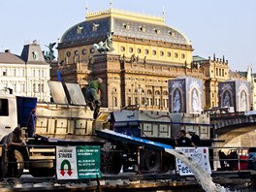
[[[166,152],[175,155],[178,159],[182,160],[184,164],[193,172],[194,176],[201,184],[203,189],[206,192],[227,192],[227,190],[219,184],[215,184],[212,181],[212,177],[206,173],[201,166],[199,166],[196,162],[192,161],[192,159],[188,158],[186,155],[181,153],[176,149],[165,149]]]

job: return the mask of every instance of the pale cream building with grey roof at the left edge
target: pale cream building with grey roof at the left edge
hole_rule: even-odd
[[[0,52],[0,77],[3,91],[9,89],[18,96],[37,97],[42,102],[50,100],[49,64],[36,41],[25,45],[20,56],[9,49]]]

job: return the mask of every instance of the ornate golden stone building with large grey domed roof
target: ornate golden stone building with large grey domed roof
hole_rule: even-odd
[[[57,80],[83,88],[103,79],[102,106],[120,109],[139,105],[169,110],[168,80],[179,76],[204,79],[204,68],[193,67],[192,45],[184,34],[166,25],[164,17],[110,9],[87,14],[62,36]]]

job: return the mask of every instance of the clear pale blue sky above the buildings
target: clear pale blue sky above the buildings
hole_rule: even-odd
[[[33,40],[46,45],[58,39],[88,12],[110,9],[111,0],[0,0],[0,51],[20,55]],[[225,59],[232,71],[256,72],[256,0],[112,0],[112,8],[162,16],[181,31],[193,55]],[[164,9],[163,9],[164,8]],[[57,50],[55,50],[56,54]]]

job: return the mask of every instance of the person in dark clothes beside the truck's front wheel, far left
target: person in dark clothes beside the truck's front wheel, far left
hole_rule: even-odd
[[[20,127],[16,127],[13,132],[6,135],[2,139],[1,144],[7,144],[8,149],[7,157],[9,163],[7,176],[18,176],[15,150],[24,145],[21,139]]]

